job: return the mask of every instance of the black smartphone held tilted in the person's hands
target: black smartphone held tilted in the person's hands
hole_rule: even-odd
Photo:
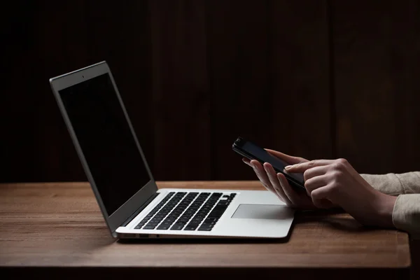
[[[262,165],[264,162],[268,162],[272,165],[276,172],[280,172],[286,176],[290,186],[296,188],[297,190],[305,190],[302,173],[287,173],[284,170],[284,167],[289,165],[287,162],[284,162],[271,153],[268,153],[263,148],[253,144],[251,141],[238,137],[233,143],[232,149],[244,158],[248,158],[249,160],[258,160]]]

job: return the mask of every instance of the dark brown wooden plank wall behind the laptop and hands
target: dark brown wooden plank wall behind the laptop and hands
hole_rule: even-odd
[[[245,180],[241,135],[420,170],[420,2],[11,1],[0,181],[85,181],[48,79],[109,62],[157,180]]]

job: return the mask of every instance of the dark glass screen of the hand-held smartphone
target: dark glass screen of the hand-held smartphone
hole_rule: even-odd
[[[259,146],[253,144],[250,141],[244,141],[241,139],[240,144],[238,146],[239,150],[244,152],[244,156],[246,158],[252,159],[252,160],[258,160],[259,162],[268,162],[272,165],[274,170],[276,172],[281,172],[286,175],[286,178],[289,176],[297,183],[300,183],[302,187],[304,187],[304,177],[301,173],[287,173],[284,170],[284,167],[288,166],[289,164],[287,162],[284,162],[283,160],[277,158],[276,156],[268,153],[263,148],[260,148]]]

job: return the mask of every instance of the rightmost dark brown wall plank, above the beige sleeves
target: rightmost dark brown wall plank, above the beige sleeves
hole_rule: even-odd
[[[419,170],[420,1],[331,3],[337,156]]]

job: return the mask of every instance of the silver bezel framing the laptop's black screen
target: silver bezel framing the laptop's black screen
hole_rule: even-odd
[[[150,181],[146,183],[145,186],[139,186],[139,191],[135,193],[132,197],[130,197],[129,200],[127,200],[123,205],[121,205],[116,211],[114,211],[111,215],[108,214],[106,211],[104,202],[102,201],[101,195],[99,194],[99,191],[97,189],[97,186],[94,182],[92,173],[90,172],[89,165],[85,159],[85,156],[83,154],[83,151],[80,147],[80,144],[78,142],[78,139],[76,137],[76,133],[73,130],[73,126],[71,125],[71,121],[69,119],[69,116],[66,112],[66,109],[64,107],[64,104],[62,102],[62,99],[59,95],[59,91],[63,90],[67,87],[71,87],[72,85],[76,85],[78,83],[82,83],[85,80],[89,80],[91,78],[100,76],[102,74],[108,73],[109,77],[111,78],[111,82],[113,84],[114,91],[117,94],[118,100],[120,102],[120,106],[123,109],[125,118],[127,120],[127,123],[130,127],[130,131],[132,132],[132,136],[134,137],[134,141],[137,145],[137,148],[139,149],[139,153],[141,154],[141,158],[144,162],[144,165],[147,169],[148,176],[150,178]],[[62,113],[62,117],[64,118],[64,122],[66,123],[67,130],[69,131],[69,134],[71,136],[71,140],[73,141],[73,144],[76,148],[76,152],[78,153],[78,157],[80,159],[80,162],[83,165],[83,169],[85,170],[85,174],[87,176],[88,181],[90,182],[90,186],[92,187],[94,196],[97,199],[97,202],[99,204],[99,208],[102,211],[102,215],[104,216],[104,219],[106,221],[106,225],[108,225],[109,230],[111,231],[111,235],[113,237],[117,237],[116,229],[120,227],[127,218],[130,218],[132,214],[139,209],[151,196],[153,196],[158,191],[158,186],[156,186],[155,179],[153,178],[153,175],[151,173],[151,169],[148,166],[147,160],[144,156],[143,150],[141,149],[141,146],[139,144],[139,141],[137,139],[137,135],[134,132],[134,129],[132,127],[132,123],[130,121],[130,118],[127,114],[127,111],[125,109],[123,100],[120,97],[120,92],[118,92],[118,87],[116,86],[115,80],[113,79],[111,69],[109,69],[108,64],[106,61],[99,62],[97,64],[93,64],[91,66],[87,66],[83,69],[78,69],[76,71],[72,71],[70,73],[66,73],[61,76],[57,76],[55,78],[50,78],[50,85],[52,88],[52,92],[54,93],[55,99],[57,100],[57,104],[59,106],[59,110]],[[118,188],[118,186],[116,186]]]

